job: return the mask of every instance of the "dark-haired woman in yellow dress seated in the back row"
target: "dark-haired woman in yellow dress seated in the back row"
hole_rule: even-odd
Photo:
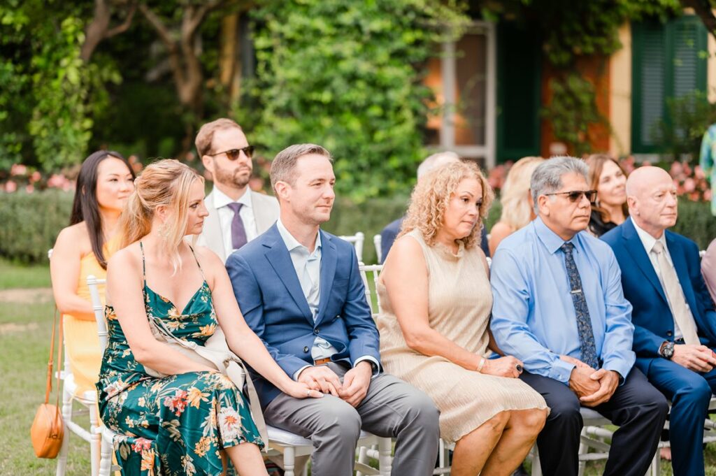
[[[117,223],[134,190],[135,174],[118,152],[98,150],[79,170],[69,226],[52,248],[50,274],[76,394],[95,392],[102,354],[87,276],[105,278],[107,261],[117,251]],[[105,286],[99,286],[102,301]]]

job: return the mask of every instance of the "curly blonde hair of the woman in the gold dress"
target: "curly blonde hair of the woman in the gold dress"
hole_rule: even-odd
[[[402,222],[400,238],[412,230],[420,230],[422,238],[430,246],[435,245],[437,231],[442,227],[445,210],[455,195],[460,182],[466,178],[474,178],[480,183],[483,190],[483,203],[480,205],[478,223],[470,235],[460,239],[465,243],[465,249],[473,248],[480,243],[480,225],[488,215],[490,205],[495,195],[488,180],[474,162],[453,162],[438,167],[418,180],[410,196],[410,206]]]

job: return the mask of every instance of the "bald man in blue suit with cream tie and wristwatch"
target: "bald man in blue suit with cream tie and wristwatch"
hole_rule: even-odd
[[[621,267],[632,303],[636,365],[672,401],[674,475],[703,475],[702,436],[716,389],[716,312],[700,271],[699,248],[667,230],[676,223],[674,182],[659,167],[627,180],[631,218],[601,236]]]

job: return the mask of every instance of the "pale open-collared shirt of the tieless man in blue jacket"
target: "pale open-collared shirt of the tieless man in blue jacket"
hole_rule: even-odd
[[[309,248],[301,245],[294,235],[291,235],[289,230],[286,229],[284,223],[281,223],[281,218],[276,221],[276,228],[279,229],[279,234],[286,244],[286,248],[289,249],[289,255],[291,255],[291,262],[294,263],[294,269],[296,270],[296,276],[299,278],[301,283],[301,291],[304,292],[306,302],[309,303],[309,309],[313,315],[314,322],[318,317],[319,303],[321,302],[321,233],[316,235],[316,246],[313,253],[309,251]],[[333,354],[337,354],[338,349],[331,345],[329,341],[322,337],[316,336],[314,339],[313,347],[311,347],[311,358],[316,360],[327,359]],[[354,365],[359,362],[368,360],[373,364],[373,374],[377,374],[379,369],[377,361],[372,356],[362,356],[356,359]],[[306,365],[301,367],[294,374],[294,380],[298,380],[301,371],[309,367]]]

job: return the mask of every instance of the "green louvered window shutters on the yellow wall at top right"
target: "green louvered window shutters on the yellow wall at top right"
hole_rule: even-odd
[[[632,24],[632,152],[658,153],[667,97],[706,89],[707,32],[696,16]]]

